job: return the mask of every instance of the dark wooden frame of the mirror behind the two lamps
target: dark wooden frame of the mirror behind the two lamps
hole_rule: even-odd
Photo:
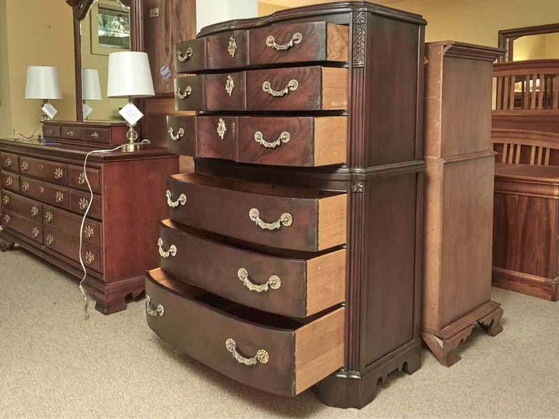
[[[130,0],[130,50],[143,51],[141,0]],[[75,119],[83,122],[82,113],[82,55],[80,22],[86,17],[94,0],[66,0],[73,9],[74,67],[75,67]],[[136,100],[134,100],[136,103]]]

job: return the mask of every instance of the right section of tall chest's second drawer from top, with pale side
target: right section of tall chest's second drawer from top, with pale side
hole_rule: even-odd
[[[246,74],[247,110],[347,109],[346,68],[274,68]]]

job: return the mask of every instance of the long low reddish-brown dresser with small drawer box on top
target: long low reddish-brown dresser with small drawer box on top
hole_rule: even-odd
[[[1,251],[17,243],[83,276],[80,227],[90,199],[84,159],[92,149],[126,142],[121,125],[53,121],[43,126],[52,144],[0,140]],[[88,143],[91,135],[94,141]],[[103,314],[126,309],[126,296],[139,295],[145,270],[157,266],[157,220],[166,212],[160,198],[166,175],[178,167],[177,156],[157,147],[89,156],[86,172],[94,198],[81,254],[84,286]]]

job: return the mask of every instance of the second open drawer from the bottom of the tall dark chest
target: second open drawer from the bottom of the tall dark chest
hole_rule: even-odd
[[[249,307],[307,317],[345,299],[341,249],[312,257],[269,256],[234,247],[226,237],[159,225],[160,266],[177,279]]]

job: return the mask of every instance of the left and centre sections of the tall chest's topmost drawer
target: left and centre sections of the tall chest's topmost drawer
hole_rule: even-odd
[[[247,65],[247,32],[229,32],[175,44],[175,72],[238,68]]]

